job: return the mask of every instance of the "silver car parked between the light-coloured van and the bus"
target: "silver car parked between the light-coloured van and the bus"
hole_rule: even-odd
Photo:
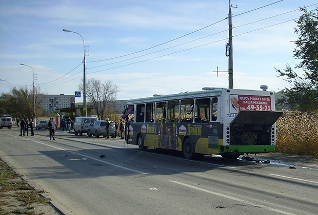
[[[106,120],[96,120],[93,125],[90,126],[88,129],[87,135],[89,137],[95,136],[95,137],[100,137],[103,135],[103,137],[107,136],[107,131],[106,131]],[[110,121],[109,124],[109,135],[111,138],[116,138],[117,132],[115,129],[115,124]]]

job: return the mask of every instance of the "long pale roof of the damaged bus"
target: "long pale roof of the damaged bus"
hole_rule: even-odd
[[[161,101],[169,101],[169,100],[175,100],[175,99],[191,99],[191,98],[202,98],[202,97],[209,97],[209,96],[221,96],[224,92],[230,92],[230,91],[236,91],[238,92],[267,92],[270,91],[256,91],[256,90],[239,90],[239,89],[226,89],[226,88],[203,88],[206,90],[203,91],[194,91],[194,92],[184,92],[184,93],[178,93],[178,94],[170,94],[170,95],[158,95],[155,94],[152,97],[146,97],[146,98],[138,98],[138,99],[130,99],[128,100],[129,104],[135,104],[135,103],[150,103],[150,102],[161,102]]]

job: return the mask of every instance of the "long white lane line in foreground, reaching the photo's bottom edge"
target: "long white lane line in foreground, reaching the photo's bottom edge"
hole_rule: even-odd
[[[233,201],[237,201],[237,202],[245,203],[245,204],[248,204],[248,205],[252,205],[254,207],[260,207],[260,208],[264,208],[264,209],[267,209],[267,210],[271,210],[271,211],[274,211],[274,212],[277,212],[277,213],[282,213],[282,214],[287,214],[287,215],[296,215],[294,213],[290,213],[290,212],[287,212],[287,211],[275,209],[275,208],[268,207],[268,206],[265,206],[265,205],[253,203],[253,202],[246,201],[246,200],[243,200],[243,199],[238,199],[238,198],[231,197],[231,196],[228,196],[228,195],[225,195],[225,194],[222,194],[222,193],[214,192],[214,191],[203,189],[203,188],[200,188],[200,187],[195,187],[195,186],[192,186],[192,185],[189,185],[189,184],[185,184],[185,183],[182,183],[182,182],[171,181],[171,180],[170,180],[170,182],[175,183],[175,184],[179,184],[179,185],[183,185],[183,186],[186,186],[186,187],[189,187],[189,188],[192,188],[192,189],[200,190],[200,191],[203,191],[203,192],[207,192],[207,193],[213,194],[215,196],[220,196],[220,197],[227,198],[227,199],[230,199],[230,200],[233,200]]]

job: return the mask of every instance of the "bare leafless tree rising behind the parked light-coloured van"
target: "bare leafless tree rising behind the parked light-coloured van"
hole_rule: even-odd
[[[78,85],[79,90],[83,91],[83,84]],[[119,87],[111,80],[101,82],[91,78],[86,81],[86,96],[89,102],[96,106],[96,114],[98,119],[104,119],[106,116],[106,107],[109,102],[116,99]]]

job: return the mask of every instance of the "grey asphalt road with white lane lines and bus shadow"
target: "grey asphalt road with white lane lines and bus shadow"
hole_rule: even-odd
[[[318,170],[0,130],[0,157],[69,214],[318,214]]]

